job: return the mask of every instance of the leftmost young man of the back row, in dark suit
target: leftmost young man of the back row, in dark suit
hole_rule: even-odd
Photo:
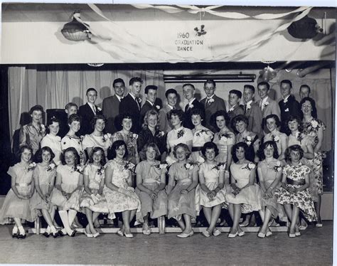
[[[97,90],[93,87],[87,89],[87,103],[85,105],[81,105],[78,109],[78,115],[81,117],[81,128],[80,134],[91,134],[94,130],[91,126],[91,120],[95,117],[95,115],[102,115],[102,110],[100,107],[95,105],[95,101],[97,99]]]

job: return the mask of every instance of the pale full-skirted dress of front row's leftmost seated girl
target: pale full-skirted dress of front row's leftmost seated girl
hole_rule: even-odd
[[[16,189],[20,195],[26,196],[30,193],[33,170],[28,171],[28,167],[16,164],[9,167],[7,174],[12,178],[16,176]],[[31,211],[29,201],[30,199],[18,198],[14,191],[10,189],[0,210],[0,224],[9,223],[9,218],[21,218],[33,222],[36,216]]]

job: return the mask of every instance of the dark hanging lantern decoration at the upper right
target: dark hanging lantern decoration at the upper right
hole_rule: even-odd
[[[294,21],[288,27],[288,32],[294,38],[310,39],[314,38],[317,33],[322,32],[323,29],[319,26],[314,18],[304,16],[299,21]]]

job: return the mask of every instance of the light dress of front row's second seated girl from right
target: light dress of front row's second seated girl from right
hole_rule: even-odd
[[[261,170],[264,186],[266,189],[268,189],[269,186],[271,186],[274,180],[276,179],[278,172],[282,171],[282,162],[277,159],[274,159],[273,161],[267,163],[267,161],[263,160],[260,161],[259,164],[257,164],[257,169]],[[260,182],[262,181],[260,180]],[[277,203],[277,197],[275,196],[275,191],[280,186],[281,183],[279,183],[275,188],[273,188],[272,198],[268,199],[262,198],[261,206],[263,209],[264,207],[268,208],[269,211],[272,213],[273,218],[277,218],[277,216],[279,216],[279,220],[287,222],[288,218],[287,215],[284,213],[284,208],[281,204]],[[264,192],[265,191],[262,191],[262,193]]]

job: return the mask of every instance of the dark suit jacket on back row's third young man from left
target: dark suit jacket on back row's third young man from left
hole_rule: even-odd
[[[139,133],[141,130],[140,122],[140,103],[128,94],[119,103],[119,115],[129,113],[132,116],[132,128],[131,131]]]

